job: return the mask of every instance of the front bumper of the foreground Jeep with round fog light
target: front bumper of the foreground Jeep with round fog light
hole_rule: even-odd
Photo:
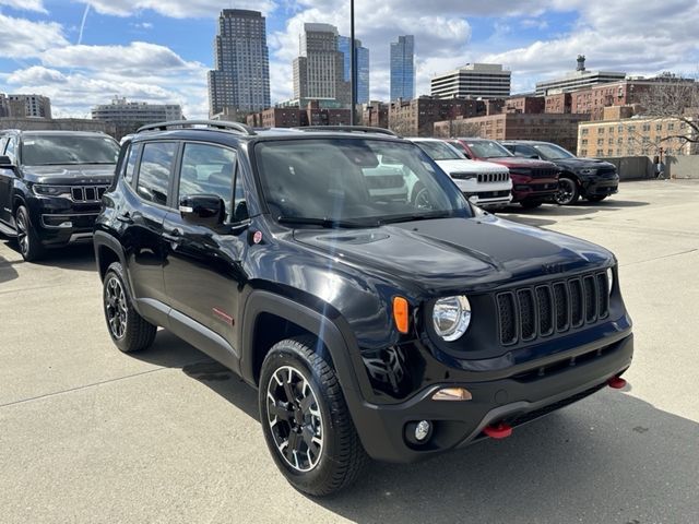
[[[352,405],[353,419],[370,456],[387,462],[415,462],[466,445],[485,438],[483,429],[495,422],[518,426],[564,407],[603,388],[631,364],[633,335],[605,345],[590,344],[570,361],[562,360],[544,377],[516,374],[505,379],[433,384],[401,404]],[[443,386],[462,386],[472,394],[470,401],[434,401]],[[406,427],[419,420],[433,424],[431,437],[424,444],[412,444]]]

